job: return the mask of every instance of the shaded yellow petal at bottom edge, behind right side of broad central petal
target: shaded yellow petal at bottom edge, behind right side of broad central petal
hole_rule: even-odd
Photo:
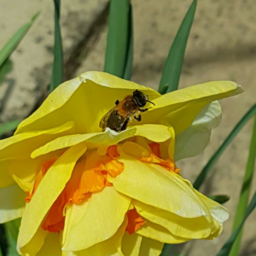
[[[121,241],[127,226],[128,220],[124,222],[111,238],[93,245],[85,250],[79,251],[80,256],[124,256],[121,251]]]

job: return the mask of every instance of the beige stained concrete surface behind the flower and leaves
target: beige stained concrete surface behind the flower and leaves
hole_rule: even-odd
[[[15,90],[22,88],[25,97],[21,99],[19,90],[19,93],[8,95],[0,115],[0,120],[5,121],[28,115],[43,96],[50,80],[53,25],[52,5],[49,1],[23,1],[26,4],[18,0],[0,1],[1,10],[5,10],[0,17],[0,47],[20,24],[37,10],[42,10],[40,18],[12,55],[15,69],[8,76],[7,83],[12,81]],[[66,78],[75,77],[87,70],[103,70],[107,35],[107,17],[104,12],[106,2],[74,0],[71,4],[68,0],[62,1],[61,24]],[[158,87],[169,47],[190,3],[190,0],[133,1],[133,81],[155,89]],[[197,157],[177,163],[182,167],[183,175],[191,180],[194,180],[232,127],[256,101],[255,14],[254,0],[198,1],[185,53],[180,88],[223,79],[240,83],[245,92],[221,101],[223,120],[212,132],[211,142],[205,151]],[[229,237],[248,157],[251,130],[252,122],[246,125],[224,152],[201,190],[204,193],[231,196],[231,200],[225,204],[231,217],[225,223],[222,235],[210,241],[188,242],[183,248],[184,254],[215,255]],[[253,192],[255,188],[254,177]],[[239,255],[256,255],[255,223],[256,211],[246,222]]]

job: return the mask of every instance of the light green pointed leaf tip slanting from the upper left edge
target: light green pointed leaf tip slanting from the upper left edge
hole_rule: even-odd
[[[28,29],[34,23],[38,15],[39,15],[39,12],[37,12],[37,14],[34,15],[28,23],[24,24],[12,36],[12,38],[6,43],[6,45],[3,46],[2,50],[0,51],[0,67],[7,60],[7,58],[9,58],[10,54],[15,50],[15,48],[18,46],[19,42],[26,35],[26,33],[28,32]]]

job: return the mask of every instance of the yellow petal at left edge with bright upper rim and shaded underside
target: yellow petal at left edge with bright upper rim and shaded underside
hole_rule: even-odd
[[[72,133],[73,125],[73,122],[67,122],[48,130],[31,131],[1,140],[0,187],[8,186],[14,182],[10,174],[15,174],[19,178],[35,175],[42,162],[30,159],[30,153],[58,136]]]

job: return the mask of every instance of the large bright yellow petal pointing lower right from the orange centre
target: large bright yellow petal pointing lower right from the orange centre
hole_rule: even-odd
[[[124,163],[124,170],[115,178],[108,176],[108,181],[113,183],[117,191],[182,217],[206,215],[211,218],[192,186],[180,179],[179,175],[159,165],[136,160],[121,149],[119,153],[118,160]]]

